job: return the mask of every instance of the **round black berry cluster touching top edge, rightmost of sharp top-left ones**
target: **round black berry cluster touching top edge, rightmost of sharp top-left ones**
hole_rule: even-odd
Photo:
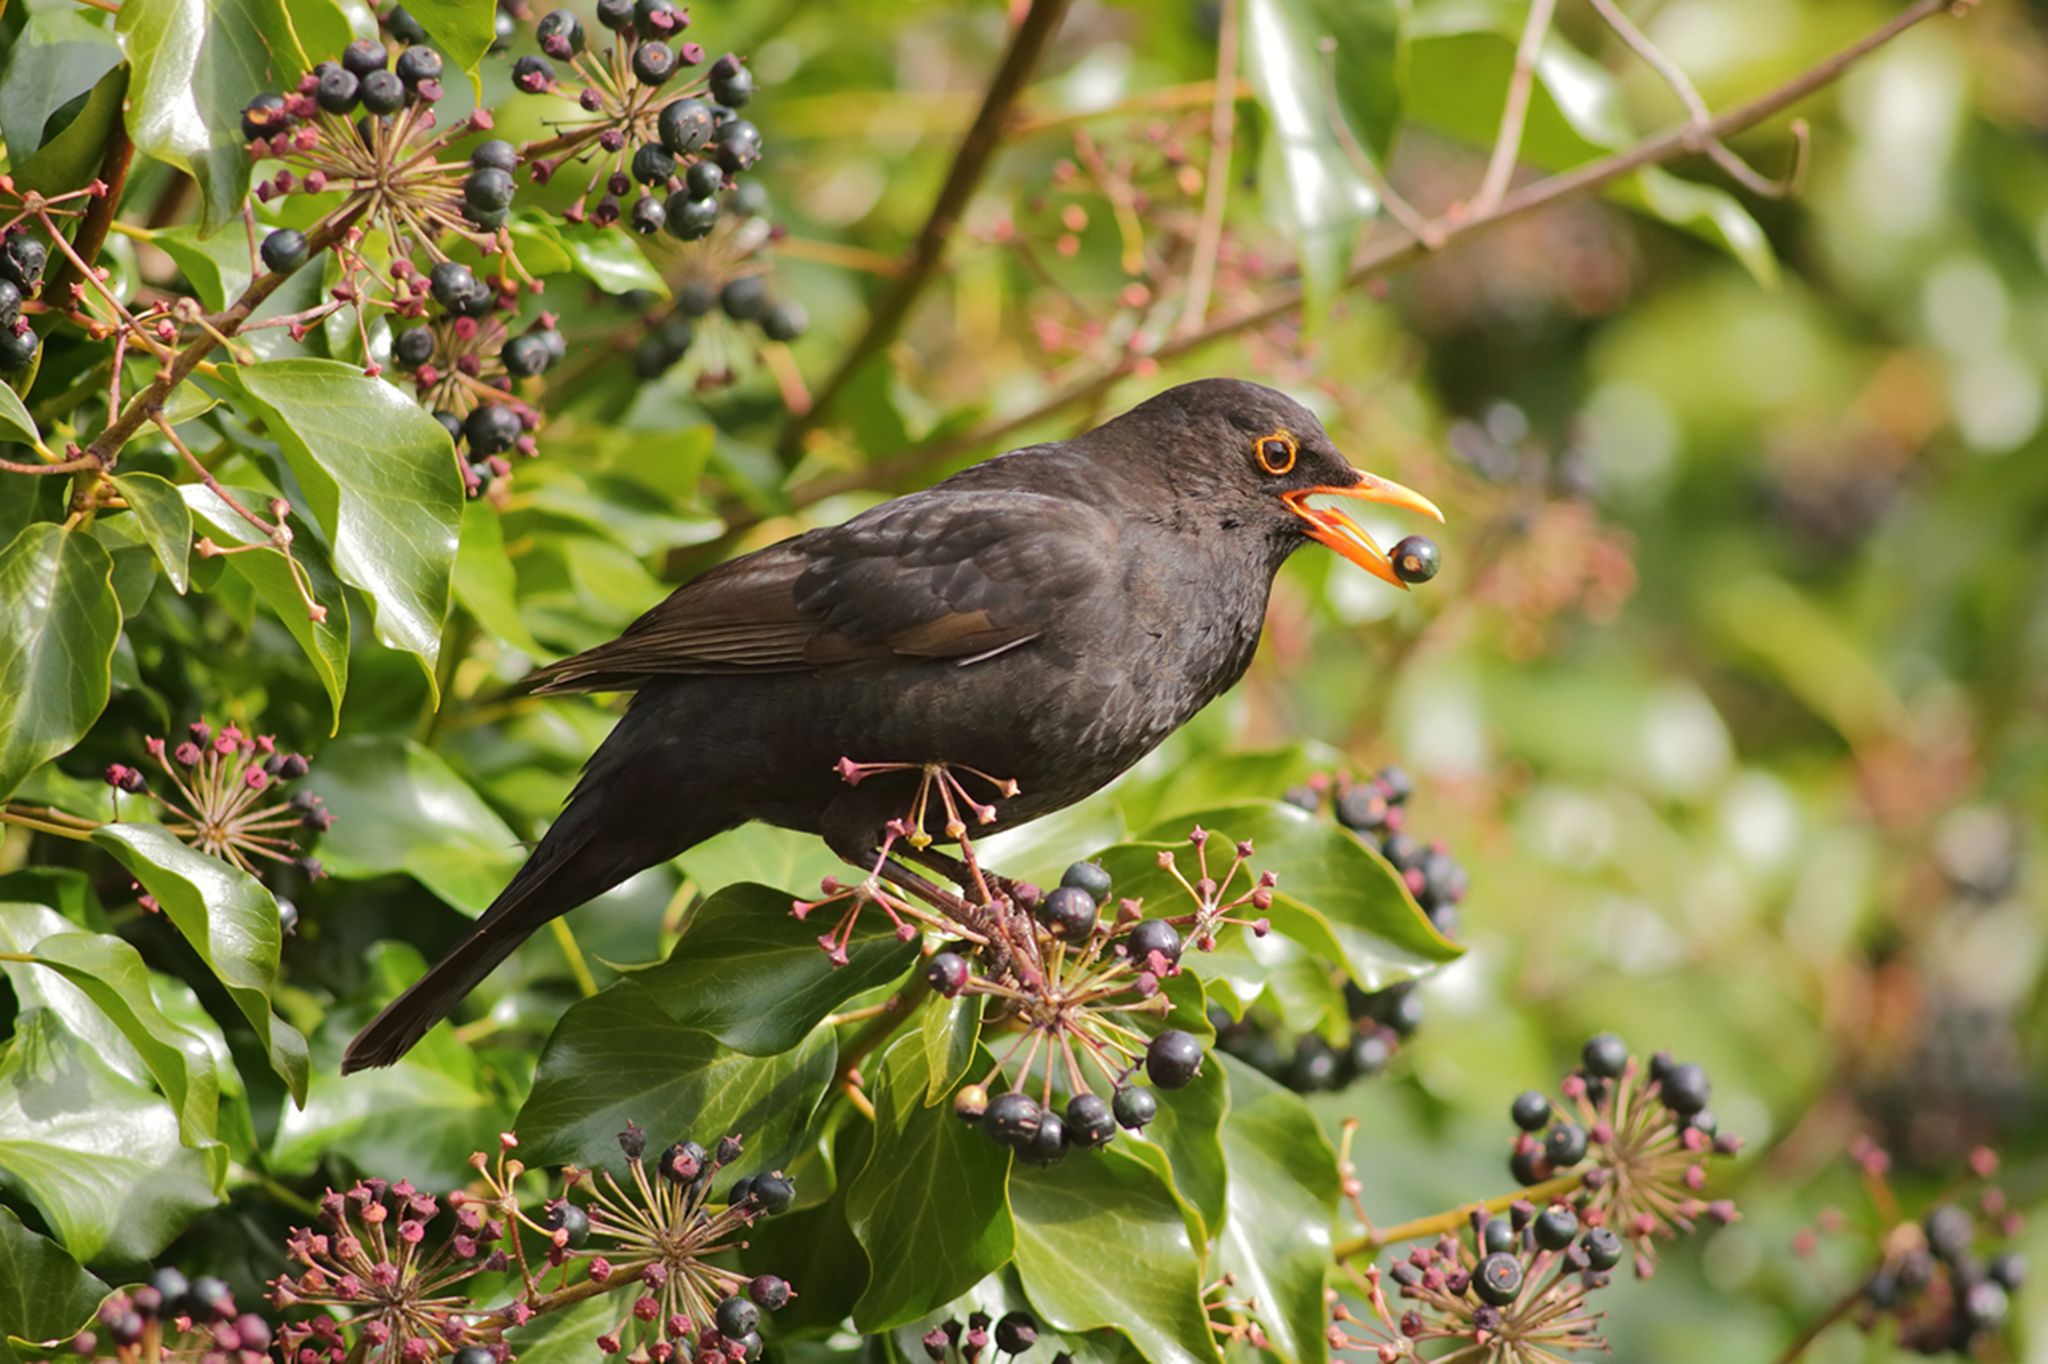
[[[690,12],[674,0],[598,0],[598,25],[612,37],[592,47],[573,10],[549,10],[535,25],[541,55],[512,63],[514,86],[580,111],[551,119],[555,135],[530,147],[535,178],[590,162],[569,221],[625,219],[641,236],[702,240],[719,221],[719,197],[762,156],[760,129],[737,113],[754,98],[754,74],[725,53],[702,76],[684,76],[705,63],[705,49],[682,39]]]

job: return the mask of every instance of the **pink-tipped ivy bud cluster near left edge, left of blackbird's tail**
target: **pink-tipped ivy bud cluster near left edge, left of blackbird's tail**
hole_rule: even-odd
[[[172,743],[156,735],[143,745],[164,774],[152,784],[141,768],[109,764],[104,778],[115,791],[119,815],[123,795],[141,795],[158,805],[164,827],[201,852],[233,862],[254,875],[266,862],[297,866],[307,877],[324,875],[305,856],[305,844],[334,825],[334,815],[311,791],[285,788],[311,770],[305,754],[287,754],[268,733],[244,733],[238,725],[207,721],[186,725],[184,739]]]

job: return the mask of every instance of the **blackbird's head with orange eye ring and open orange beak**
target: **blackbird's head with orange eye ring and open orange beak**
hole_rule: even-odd
[[[1182,383],[1094,434],[1151,465],[1155,477],[1147,481],[1157,487],[1145,492],[1163,496],[1176,516],[1212,516],[1223,530],[1266,532],[1276,565],[1319,541],[1407,590],[1386,551],[1329,502],[1378,502],[1444,520],[1421,494],[1352,467],[1313,412],[1243,379]]]

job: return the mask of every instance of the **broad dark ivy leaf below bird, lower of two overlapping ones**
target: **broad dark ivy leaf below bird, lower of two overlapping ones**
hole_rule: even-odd
[[[766,1169],[797,1139],[831,1081],[831,1030],[795,1051],[748,1057],[684,1028],[635,979],[569,1006],[541,1051],[518,1135],[532,1165],[616,1165],[616,1133],[639,1122],[666,1145],[739,1133]]]

